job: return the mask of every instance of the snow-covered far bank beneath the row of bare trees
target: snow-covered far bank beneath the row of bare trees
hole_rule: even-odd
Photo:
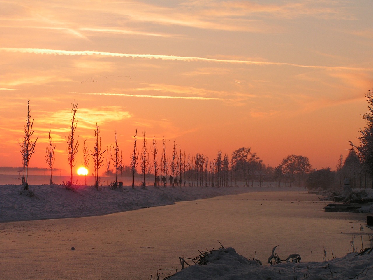
[[[196,200],[245,192],[304,190],[284,187],[123,187],[111,190],[103,187],[78,187],[66,190],[61,185],[31,185],[35,196],[20,195],[21,185],[0,186],[0,222],[73,218],[105,215],[142,207],[173,204],[181,200]]]

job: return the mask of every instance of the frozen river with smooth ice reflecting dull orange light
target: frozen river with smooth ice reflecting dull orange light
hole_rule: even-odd
[[[225,247],[265,263],[322,261],[369,246],[366,215],[323,212],[327,202],[305,192],[259,192],[178,202],[99,217],[0,224],[0,279],[150,280],[180,268],[179,256]],[[362,234],[362,235],[361,235]],[[72,246],[75,250],[71,250]],[[160,278],[163,279],[161,276]],[[156,278],[155,278],[156,279]]]

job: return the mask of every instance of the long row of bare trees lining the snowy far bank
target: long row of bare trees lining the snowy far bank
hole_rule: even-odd
[[[71,125],[69,134],[65,136],[67,143],[68,164],[70,167],[70,181],[67,182],[67,188],[73,188],[73,172],[72,168],[76,164],[76,155],[79,147],[79,135],[76,133],[78,125],[76,113],[78,111],[78,103],[73,102],[71,113]],[[35,141],[32,141],[33,119],[30,116],[30,107],[28,101],[28,115],[25,125],[25,137],[19,141],[21,145],[21,153],[24,165],[24,184],[28,187],[28,163],[31,155],[35,152]],[[263,164],[263,161],[258,157],[256,152],[252,152],[250,147],[242,147],[232,152],[231,159],[227,154],[223,155],[221,151],[216,153],[216,157],[210,160],[207,156],[197,153],[194,156],[190,154],[186,156],[181,147],[173,141],[171,153],[166,151],[166,141],[162,139],[162,150],[157,147],[157,140],[153,137],[150,149],[148,148],[147,137],[145,132],[142,134],[142,150],[139,154],[137,145],[137,128],[134,135],[134,149],[130,158],[130,169],[132,174],[132,187],[135,187],[135,175],[137,167],[140,163],[141,168],[141,185],[146,187],[154,183],[154,186],[159,187],[170,185],[175,186],[238,186],[238,182],[243,182],[244,186],[249,186],[250,180],[252,185],[255,181],[259,181],[261,186],[264,181],[285,181],[285,183],[297,182],[298,185],[304,180],[305,174],[310,171],[311,165],[309,159],[304,156],[289,155],[281,161],[281,164],[272,168]],[[48,133],[49,143],[46,148],[46,163],[50,168],[50,183],[52,180],[52,169],[54,164],[54,151],[56,145],[51,137],[51,130]],[[159,155],[160,154],[160,155]],[[140,157],[140,159],[139,159]],[[106,158],[106,161],[104,159]],[[94,147],[88,149],[86,140],[83,141],[83,160],[82,165],[88,168],[89,163],[93,163],[95,184],[100,188],[100,168],[106,163],[107,182],[109,184],[109,173],[112,172],[110,165],[113,162],[115,170],[115,181],[110,185],[113,188],[120,186],[118,182],[118,174],[122,174],[125,166],[123,165],[122,150],[120,149],[115,130],[114,144],[103,149],[101,146],[100,128],[96,122],[94,130]],[[150,177],[154,176],[154,182],[151,183]],[[162,179],[161,179],[161,178]],[[87,181],[85,179],[85,184]]]

